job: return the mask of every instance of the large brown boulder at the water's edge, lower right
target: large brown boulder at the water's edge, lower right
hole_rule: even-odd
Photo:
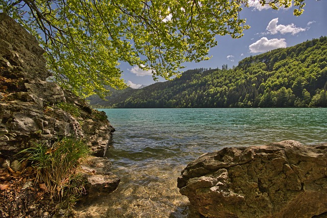
[[[224,148],[189,163],[180,193],[206,217],[312,217],[327,212],[327,144]]]

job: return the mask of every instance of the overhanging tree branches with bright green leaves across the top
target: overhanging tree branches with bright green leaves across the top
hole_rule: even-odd
[[[35,35],[56,81],[79,95],[123,88],[120,62],[179,75],[183,62],[209,59],[216,35],[242,36],[239,12],[254,0],[0,0],[0,11]],[[292,0],[260,0],[271,8]],[[303,0],[294,0],[295,15]]]

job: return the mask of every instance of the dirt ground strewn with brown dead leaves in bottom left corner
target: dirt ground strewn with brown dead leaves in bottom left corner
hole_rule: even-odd
[[[58,202],[51,200],[44,184],[35,182],[34,169],[24,163],[21,172],[3,166],[0,165],[0,216],[52,217]]]

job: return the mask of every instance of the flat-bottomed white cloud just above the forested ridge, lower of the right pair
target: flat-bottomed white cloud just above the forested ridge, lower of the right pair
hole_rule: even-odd
[[[279,47],[286,47],[285,39],[270,39],[262,37],[258,41],[250,44],[249,49],[251,53],[268,52],[270,50],[278,49]]]

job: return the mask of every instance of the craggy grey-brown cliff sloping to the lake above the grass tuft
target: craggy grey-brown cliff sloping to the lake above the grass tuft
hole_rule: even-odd
[[[43,50],[36,39],[0,14],[0,151],[11,155],[34,143],[83,139],[95,156],[104,156],[113,127],[73,93],[47,82]]]

